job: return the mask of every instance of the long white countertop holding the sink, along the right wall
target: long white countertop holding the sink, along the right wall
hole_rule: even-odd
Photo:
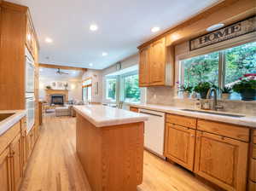
[[[255,116],[245,116],[241,118],[236,118],[236,117],[230,117],[230,116],[216,115],[212,113],[196,113],[196,112],[181,110],[181,109],[187,109],[184,107],[172,107],[172,106],[151,105],[151,104],[130,104],[130,106],[164,112],[164,113],[179,114],[179,115],[194,117],[199,119],[209,119],[212,121],[218,121],[218,122],[223,122],[228,124],[237,124],[237,125],[252,127],[256,129],[256,113],[255,113]],[[199,111],[204,111],[204,110],[199,110]],[[210,111],[210,112],[214,113],[214,111]],[[232,114],[237,115],[239,113],[232,113]]]

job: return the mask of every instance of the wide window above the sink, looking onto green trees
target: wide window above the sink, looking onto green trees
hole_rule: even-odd
[[[207,81],[224,88],[247,73],[256,73],[256,42],[180,61],[179,77],[185,86]]]

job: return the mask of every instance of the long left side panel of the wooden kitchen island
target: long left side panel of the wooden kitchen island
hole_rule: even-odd
[[[101,131],[77,113],[76,149],[93,191],[102,190]]]

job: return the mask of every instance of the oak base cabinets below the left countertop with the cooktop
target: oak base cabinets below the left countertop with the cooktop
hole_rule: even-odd
[[[17,191],[26,170],[26,163],[36,142],[35,126],[26,135],[26,118],[0,136],[1,190]]]

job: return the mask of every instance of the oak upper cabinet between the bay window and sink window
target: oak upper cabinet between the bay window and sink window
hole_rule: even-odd
[[[166,47],[166,38],[140,49],[140,87],[173,85],[173,48]]]

